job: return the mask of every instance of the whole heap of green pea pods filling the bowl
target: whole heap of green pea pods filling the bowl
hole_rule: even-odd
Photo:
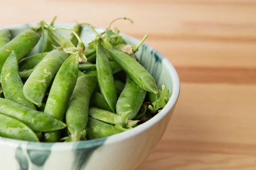
[[[137,46],[111,30],[77,23],[74,28],[40,25],[12,37],[0,30],[0,136],[31,142],[76,142],[130,130],[151,119],[169,101],[140,65]],[[130,20],[131,21],[131,20]],[[89,26],[95,40],[84,44]],[[71,39],[56,30],[70,31]],[[27,56],[43,38],[42,53]]]

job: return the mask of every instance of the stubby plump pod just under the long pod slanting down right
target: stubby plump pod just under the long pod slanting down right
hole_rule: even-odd
[[[125,88],[116,103],[116,113],[122,115],[130,112],[128,119],[133,119],[139,112],[147,91],[137,87],[130,77],[126,78]]]

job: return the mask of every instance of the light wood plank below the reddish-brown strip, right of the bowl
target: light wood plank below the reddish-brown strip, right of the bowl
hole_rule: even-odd
[[[137,170],[253,170],[256,87],[182,83],[163,139]]]

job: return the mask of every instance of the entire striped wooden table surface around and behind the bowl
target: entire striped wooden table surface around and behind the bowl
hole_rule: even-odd
[[[3,0],[2,0],[3,1]],[[166,133],[137,170],[256,169],[255,0],[9,0],[0,26],[46,20],[115,26],[175,66],[180,98]]]

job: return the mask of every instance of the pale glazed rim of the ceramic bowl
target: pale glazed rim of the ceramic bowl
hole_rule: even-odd
[[[19,27],[23,27],[26,25],[32,26],[36,25],[39,23],[26,23],[26,24],[16,24],[16,25],[9,25],[9,26],[3,26],[0,27],[1,29],[15,29]],[[69,25],[69,27],[73,27],[76,25],[76,23],[55,23],[56,25]],[[94,27],[100,30],[105,30],[105,28],[101,27]],[[120,33],[124,39],[128,38],[133,42],[140,42],[140,40],[131,37],[127,34]],[[0,144],[1,145],[8,145],[12,147],[17,147],[18,144],[27,144],[27,149],[36,149],[36,150],[74,150],[73,146],[76,143],[79,143],[79,146],[76,147],[76,149],[85,149],[85,148],[91,148],[91,147],[97,147],[102,145],[108,145],[108,144],[114,144],[117,142],[121,142],[123,140],[126,140],[128,138],[131,138],[133,136],[137,136],[143,131],[151,128],[154,126],[157,122],[159,122],[163,117],[165,117],[173,107],[175,107],[177,103],[177,99],[179,98],[180,94],[180,79],[178,77],[177,71],[175,70],[175,67],[172,65],[172,63],[167,59],[166,57],[163,56],[159,51],[157,51],[155,48],[151,47],[150,45],[143,43],[144,46],[148,47],[151,49],[151,51],[155,54],[157,54],[158,57],[162,58],[164,62],[166,62],[167,66],[167,71],[169,71],[169,74],[171,75],[172,78],[172,95],[169,99],[169,102],[166,104],[166,106],[157,113],[152,119],[148,120],[147,122],[134,127],[133,129],[127,130],[122,133],[118,133],[112,136],[108,136],[105,138],[101,139],[93,139],[93,140],[88,140],[88,141],[79,141],[79,142],[28,142],[28,141],[22,141],[22,140],[17,140],[17,139],[9,139],[9,138],[3,138],[0,137]],[[52,148],[52,145],[54,145],[54,148]]]

